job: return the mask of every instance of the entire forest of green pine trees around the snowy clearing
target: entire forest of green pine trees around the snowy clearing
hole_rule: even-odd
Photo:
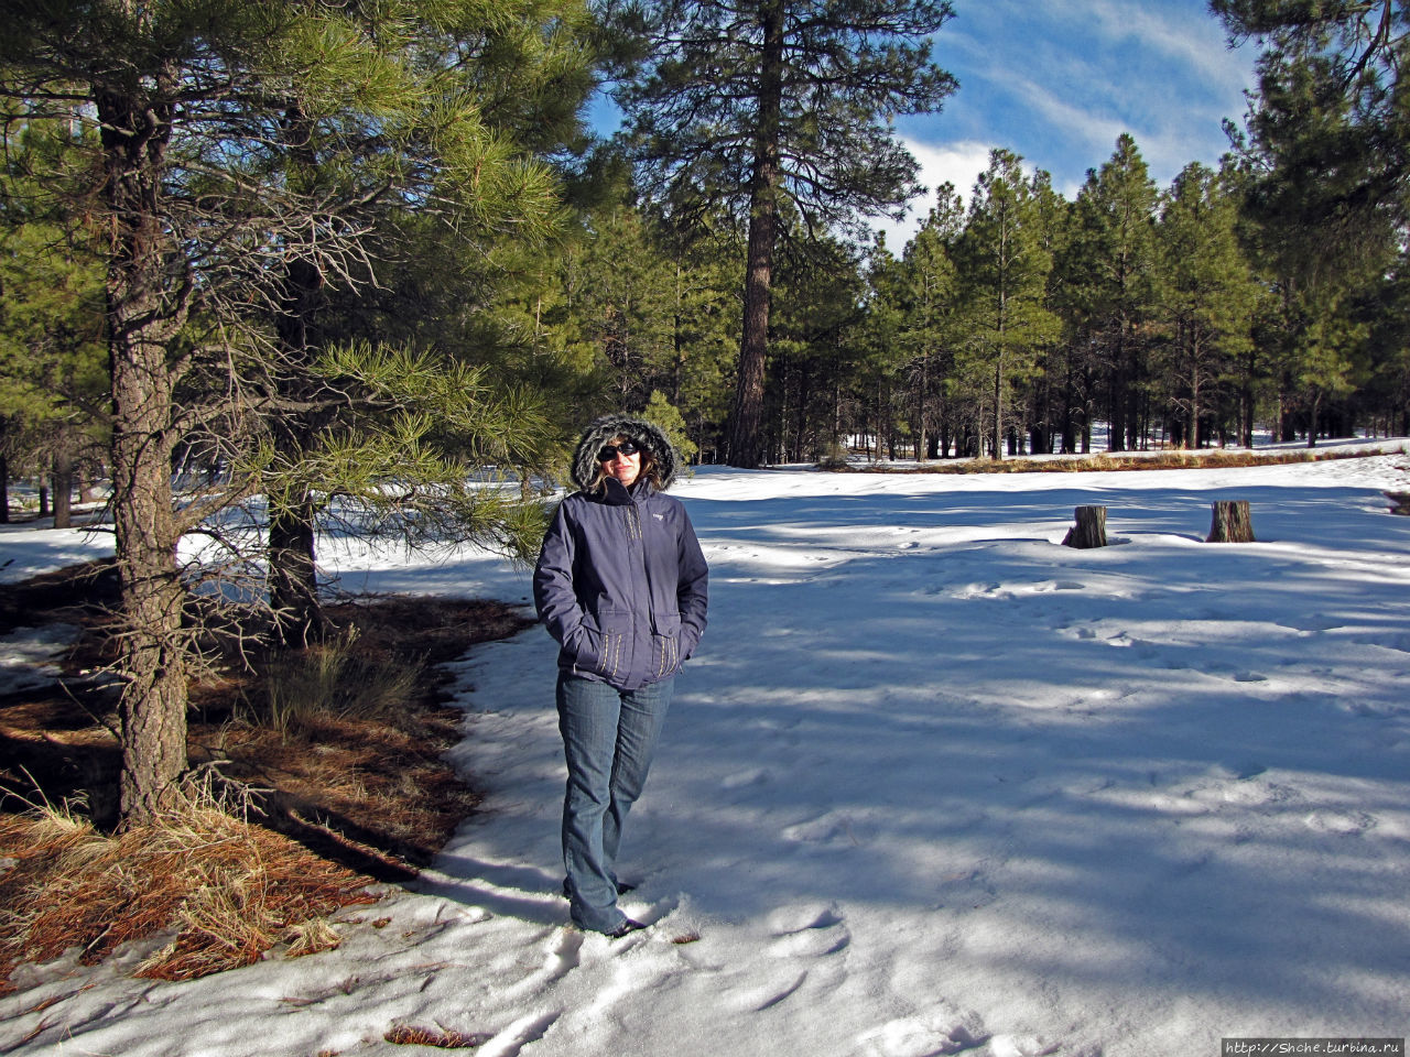
[[[948,3],[20,4],[0,519],[110,500],[124,817],[185,767],[193,578],[298,648],[331,517],[532,554],[603,410],[739,466],[1410,434],[1406,11],[1211,8],[1262,48],[1218,171],[1122,135],[1067,200],[997,149],[887,247]]]

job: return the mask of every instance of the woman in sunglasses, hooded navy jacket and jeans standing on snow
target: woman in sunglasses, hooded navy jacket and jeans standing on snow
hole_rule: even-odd
[[[618,939],[618,846],[642,795],[675,672],[705,630],[706,568],[685,507],[663,495],[677,457],[660,428],[606,416],[572,457],[533,589],[560,645],[558,729],[568,761],[564,892],[574,923]]]

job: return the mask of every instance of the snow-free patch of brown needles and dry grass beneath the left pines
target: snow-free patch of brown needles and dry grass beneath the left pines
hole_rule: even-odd
[[[62,583],[44,588],[73,598]],[[31,605],[10,607],[38,623],[44,610]],[[193,788],[152,826],[109,833],[92,820],[90,802],[116,799],[117,743],[113,702],[76,678],[93,654],[87,641],[68,664],[66,689],[0,698],[0,860],[13,861],[0,868],[0,991],[21,961],[78,948],[80,963],[94,964],[157,936],[171,939],[138,974],[162,979],[245,965],[271,950],[327,950],[337,944],[329,915],[372,902],[369,884],[415,877],[444,846],[475,796],[444,758],[462,715],[446,706],[444,679],[429,665],[526,620],[499,603],[424,599],[330,613],[355,629],[343,636],[337,676],[320,676],[333,692],[282,730],[251,722],[251,702],[268,700],[255,675],[193,688],[202,719],[190,726],[189,755],[197,774],[219,771],[220,781]],[[312,664],[330,667],[323,657]],[[368,679],[374,669],[396,678]],[[348,695],[348,682],[375,684],[374,693]],[[233,789],[245,792],[231,802]]]

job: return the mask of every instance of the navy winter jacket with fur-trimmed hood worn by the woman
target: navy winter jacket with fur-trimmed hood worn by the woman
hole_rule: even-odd
[[[611,426],[623,421],[647,426],[622,419]],[[578,454],[587,450],[589,459],[580,465],[591,464],[602,431],[585,435]],[[613,428],[608,438],[623,434],[633,430]],[[661,451],[657,444],[668,448],[654,427],[647,440],[653,452]],[[674,452],[667,483],[673,475]],[[695,651],[705,631],[706,581],[705,555],[680,500],[644,476],[630,490],[609,478],[601,490],[575,492],[558,506],[533,592],[539,619],[561,647],[558,667],[630,691],[668,679]]]

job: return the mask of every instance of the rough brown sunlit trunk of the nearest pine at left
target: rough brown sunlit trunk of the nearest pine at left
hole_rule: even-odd
[[[107,268],[113,390],[113,528],[121,582],[124,678],[118,705],[124,824],[175,799],[186,769],[183,588],[172,514],[172,392],[166,342],[180,320],[164,303],[161,173],[169,107],[97,93],[111,213]]]

